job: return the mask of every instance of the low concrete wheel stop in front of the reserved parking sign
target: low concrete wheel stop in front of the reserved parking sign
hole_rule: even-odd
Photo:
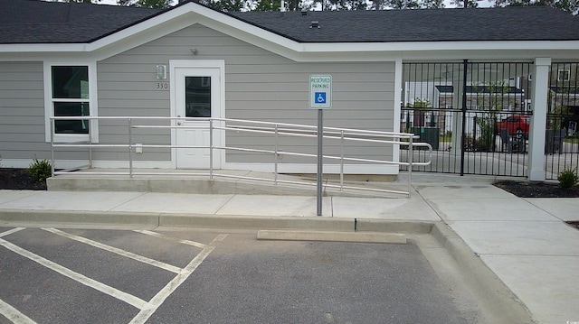
[[[261,230],[257,232],[258,240],[285,241],[324,241],[324,242],[356,242],[356,243],[389,243],[406,244],[406,236],[392,233],[370,232],[308,232]]]

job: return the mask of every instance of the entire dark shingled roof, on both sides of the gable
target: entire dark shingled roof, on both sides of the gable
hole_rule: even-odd
[[[163,11],[0,0],[0,43],[94,42],[157,14]],[[541,6],[223,14],[296,42],[579,40],[579,18]],[[314,21],[318,26],[312,26]]]

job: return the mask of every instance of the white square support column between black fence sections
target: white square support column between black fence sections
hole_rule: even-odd
[[[547,93],[551,58],[536,58],[531,92],[531,126],[529,130],[528,179],[545,181],[545,134]]]

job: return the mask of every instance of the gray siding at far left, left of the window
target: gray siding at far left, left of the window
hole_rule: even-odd
[[[0,157],[50,159],[44,129],[43,62],[0,62]]]

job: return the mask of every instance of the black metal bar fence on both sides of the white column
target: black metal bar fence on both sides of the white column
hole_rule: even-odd
[[[527,176],[531,62],[403,63],[400,129],[431,143],[417,171]],[[553,63],[548,89],[546,179],[579,162],[579,63]],[[414,152],[414,161],[424,152]],[[401,160],[408,152],[401,151]]]

